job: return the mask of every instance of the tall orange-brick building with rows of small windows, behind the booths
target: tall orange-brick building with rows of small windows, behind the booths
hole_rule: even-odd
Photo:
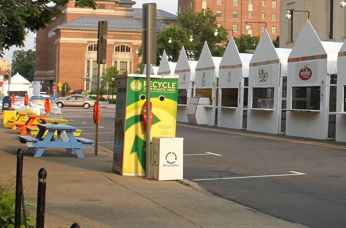
[[[280,33],[280,0],[178,0],[178,13],[186,12],[188,6],[194,12],[210,8],[217,17],[217,23],[228,29],[229,36],[241,34],[261,36],[267,26],[272,40]],[[246,29],[245,22],[249,21]]]

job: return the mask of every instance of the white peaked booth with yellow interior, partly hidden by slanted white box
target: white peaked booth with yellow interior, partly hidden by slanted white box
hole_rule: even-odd
[[[205,106],[208,109],[208,125],[216,124],[216,78],[219,77],[219,65],[222,57],[211,56],[207,41],[204,43],[201,55],[199,57],[195,72],[195,87],[197,97],[208,97],[210,104]]]

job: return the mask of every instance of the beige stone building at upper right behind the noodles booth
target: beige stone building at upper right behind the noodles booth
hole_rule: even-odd
[[[280,47],[294,46],[308,16],[321,41],[344,42],[346,9],[340,7],[340,2],[342,0],[281,0]],[[290,16],[285,16],[286,10]]]

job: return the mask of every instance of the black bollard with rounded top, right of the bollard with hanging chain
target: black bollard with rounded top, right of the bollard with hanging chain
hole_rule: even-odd
[[[36,228],[44,228],[44,216],[46,205],[46,178],[47,172],[45,168],[41,168],[38,171]]]

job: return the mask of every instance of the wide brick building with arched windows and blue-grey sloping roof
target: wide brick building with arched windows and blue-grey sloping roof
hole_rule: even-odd
[[[67,81],[72,90],[97,87],[97,30],[98,21],[108,21],[107,63],[101,72],[115,65],[120,73],[135,73],[141,61],[136,50],[142,43],[142,9],[132,6],[131,0],[98,0],[97,10],[76,8],[74,1],[60,7],[63,15],[54,18],[36,37],[34,79],[43,81],[43,90],[51,91],[53,82]],[[157,32],[164,22],[177,17],[157,10]],[[88,74],[93,83],[83,81]]]

